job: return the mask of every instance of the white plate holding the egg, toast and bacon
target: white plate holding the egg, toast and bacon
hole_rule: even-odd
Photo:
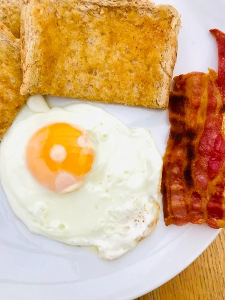
[[[155,2],[172,4],[182,15],[174,75],[206,72],[207,67],[217,69],[216,43],[208,29],[225,31],[224,0]],[[49,102],[61,105],[63,101],[49,98]],[[164,153],[169,129],[167,111],[99,106],[130,127],[150,129]],[[161,211],[151,236],[123,257],[104,261],[83,248],[30,233],[12,213],[1,188],[0,198],[0,295],[4,300],[133,299],[183,270],[219,231],[206,225],[166,227]]]

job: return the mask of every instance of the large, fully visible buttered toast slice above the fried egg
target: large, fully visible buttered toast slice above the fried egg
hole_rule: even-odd
[[[20,92],[166,109],[179,28],[148,0],[24,0]]]

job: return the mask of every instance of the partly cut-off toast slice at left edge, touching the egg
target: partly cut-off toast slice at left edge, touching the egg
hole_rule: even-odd
[[[0,140],[26,100],[21,82],[20,40],[0,21]]]

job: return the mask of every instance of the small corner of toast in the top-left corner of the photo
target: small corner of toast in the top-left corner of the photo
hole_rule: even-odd
[[[20,35],[20,13],[22,0],[0,0],[0,20],[15,37]]]

